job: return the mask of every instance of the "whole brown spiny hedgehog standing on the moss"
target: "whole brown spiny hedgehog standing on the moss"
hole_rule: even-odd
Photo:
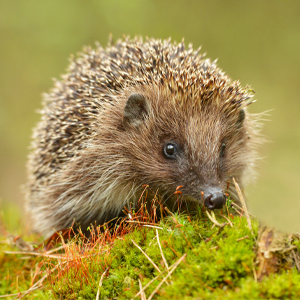
[[[28,161],[26,208],[44,235],[103,224],[137,205],[147,185],[162,203],[238,201],[233,178],[254,177],[253,91],[200,48],[125,37],[85,47],[44,96]],[[177,197],[178,198],[178,197]],[[171,207],[174,209],[174,205]]]

